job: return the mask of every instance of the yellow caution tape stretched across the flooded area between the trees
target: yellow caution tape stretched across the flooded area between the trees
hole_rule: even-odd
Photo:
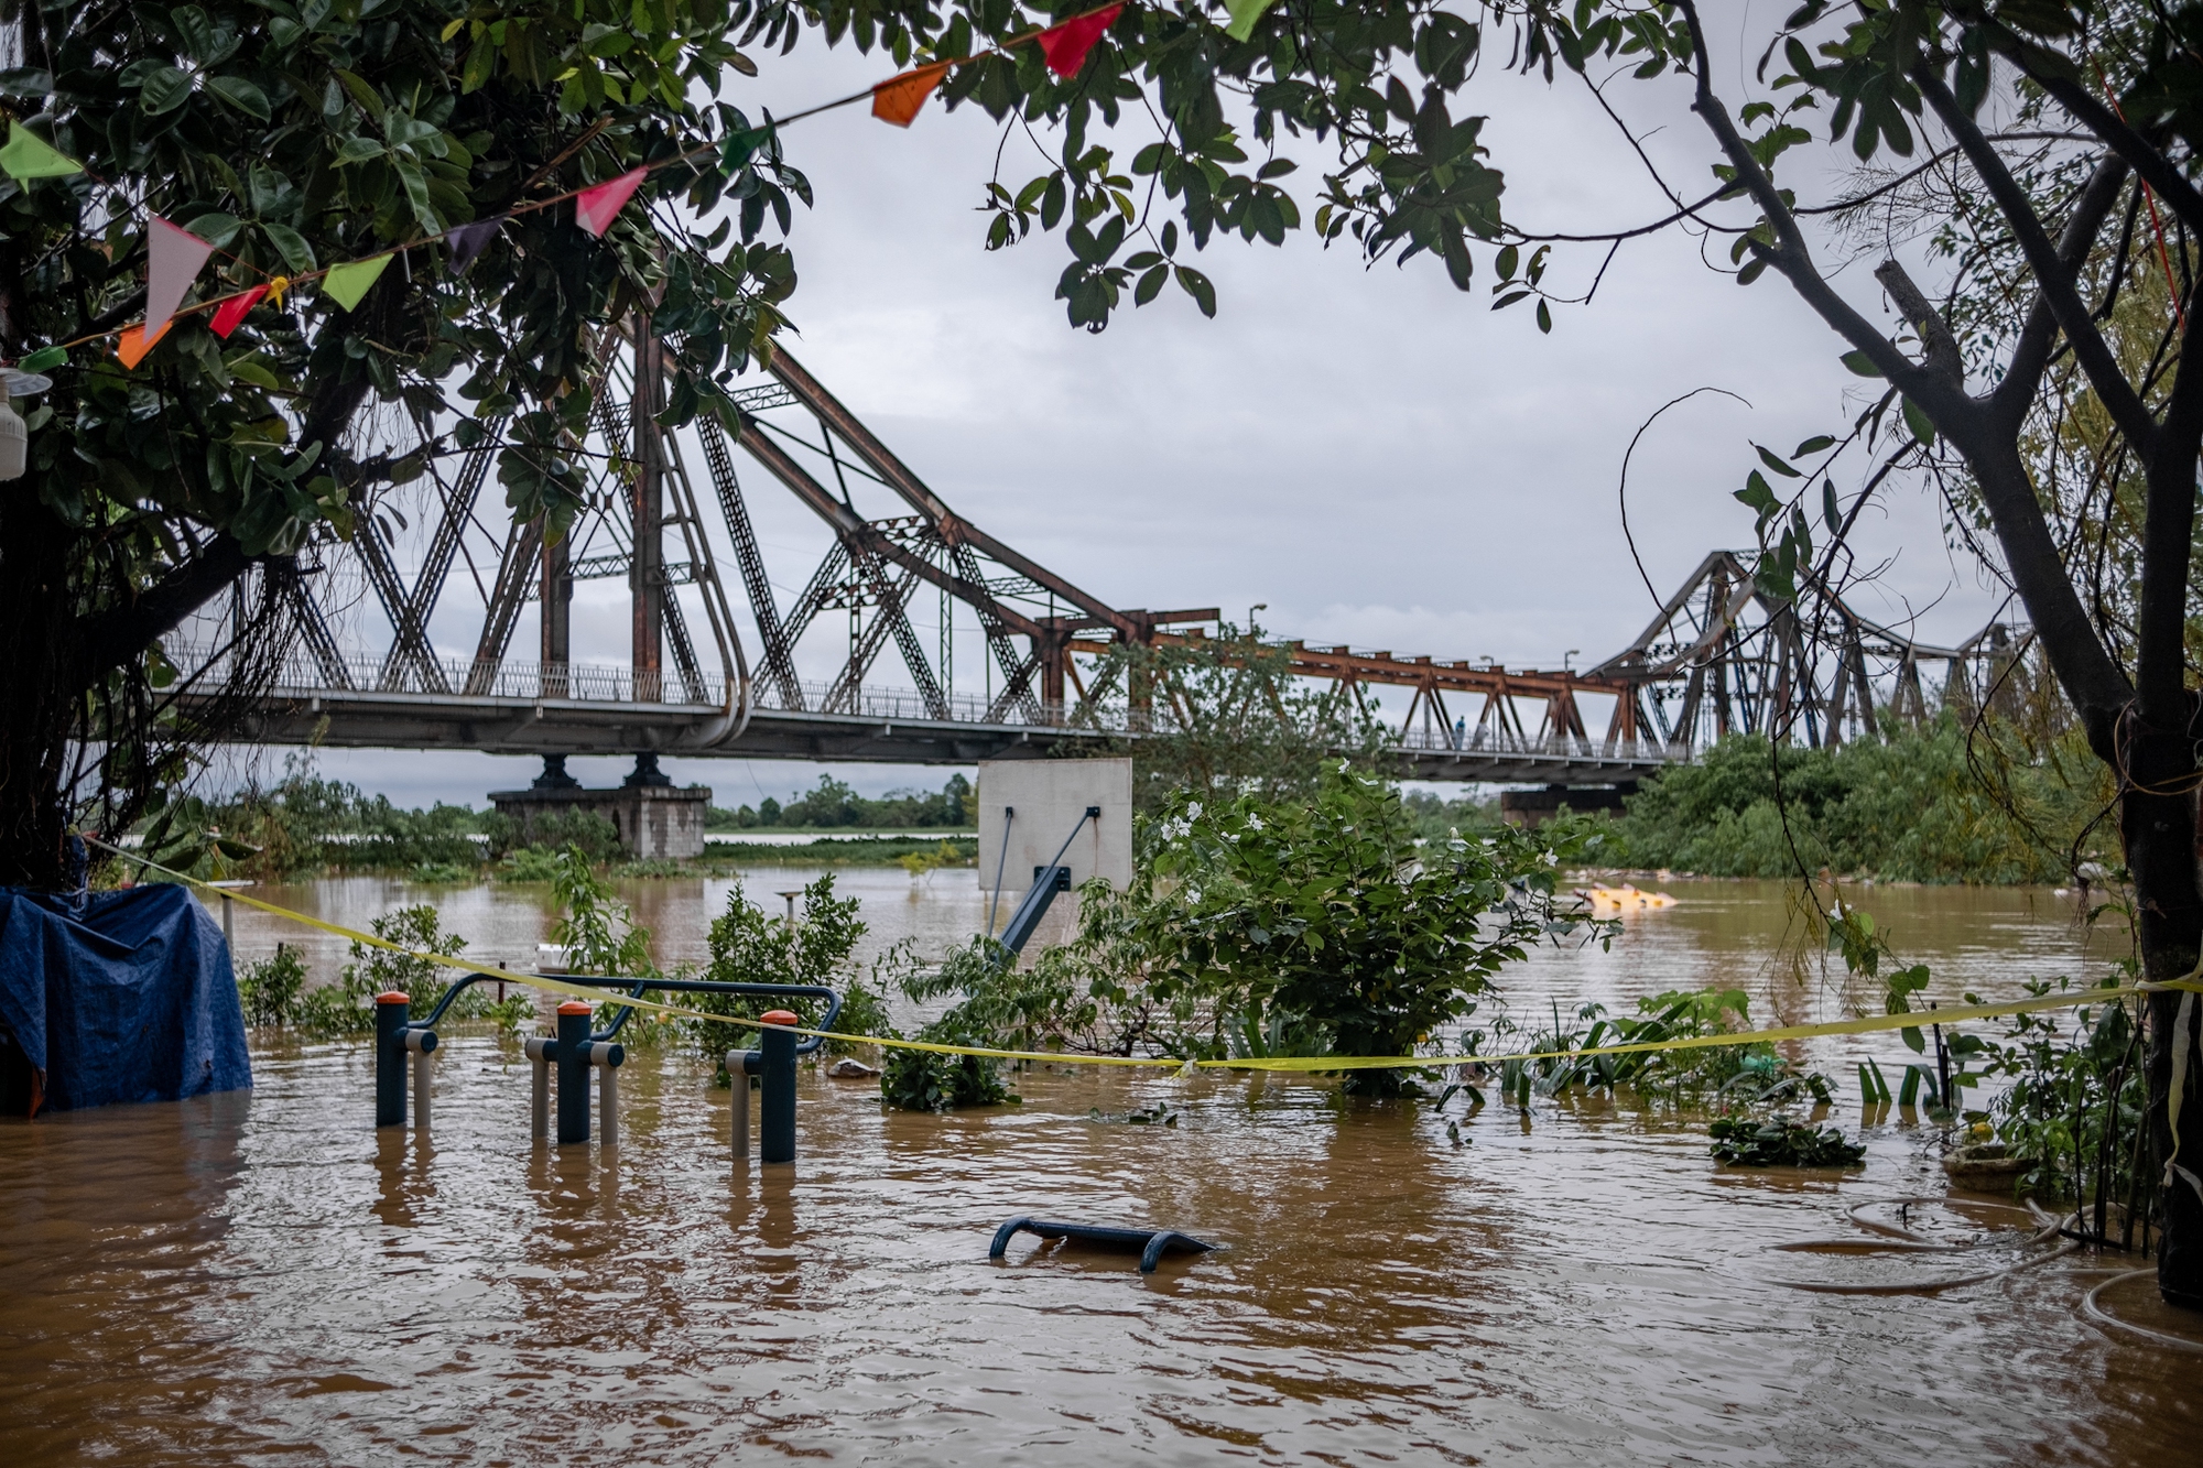
[[[370,948],[381,948],[386,952],[405,954],[408,959],[421,959],[423,963],[434,963],[438,968],[460,968],[471,974],[482,974],[485,979],[502,979],[504,983],[518,983],[531,990],[544,990],[551,994],[566,994],[571,999],[586,999],[593,1003],[617,1003],[632,1010],[648,1010],[652,1014],[672,1014],[679,1018],[707,1021],[714,1025],[740,1025],[745,1029],[778,1029],[784,1034],[800,1034],[806,1038],[842,1040],[846,1045],[879,1045],[886,1049],[914,1049],[934,1056],[978,1056],[983,1060],[1033,1060],[1044,1065],[1130,1065],[1130,1067],[1152,1067],[1152,1069],[1218,1069],[1218,1071],[1401,1071],[1401,1069],[1430,1069],[1439,1065],[1500,1065],[1505,1060],[1582,1060],[1588,1056],[1635,1056],[1654,1049],[1712,1049],[1723,1045],[1760,1045],[1765,1040],[1813,1040],[1833,1034],[1875,1034],[1884,1029],[1921,1029],[1925,1025],[1956,1025],[1961,1021],[1976,1018],[2000,1018],[2007,1014],[2031,1014],[2036,1010],[2084,1010],[2088,1005],[2135,999],[2144,994],[2157,994],[2168,990],[2203,994],[2203,981],[2172,979],[2166,983],[2126,983],[2117,987],[2102,990],[2071,990],[2060,994],[2036,994],[2029,999],[2007,999],[1994,1005],[1954,1005],[1950,1010],[1925,1010],[1912,1014],[1868,1014],[1848,1021],[1826,1021],[1820,1025],[1780,1025],[1776,1029],[1745,1029],[1736,1034],[1696,1034],[1679,1036],[1672,1040],[1626,1040],[1619,1045],[1588,1045],[1584,1049],[1535,1049],[1535,1051],[1511,1051],[1496,1056],[1238,1056],[1229,1060],[1185,1060],[1176,1056],[1077,1056],[1051,1049],[991,1049],[985,1045],[941,1045],[934,1040],[892,1040],[877,1034],[842,1034],[837,1029],[804,1029],[802,1025],[767,1025],[753,1018],[736,1018],[731,1014],[705,1014],[703,1010],[683,1010],[681,1005],[659,1003],[654,999],[630,999],[626,994],[608,994],[604,987],[590,987],[582,983],[566,983],[562,979],[546,979],[544,974],[520,974],[509,968],[498,968],[493,963],[476,963],[474,959],[460,959],[447,952],[423,952],[419,948],[405,948],[403,943],[392,943],[386,937],[372,932],[361,932],[359,928],[346,928],[344,924],[324,921],[306,913],[293,913],[291,908],[275,906],[273,902],[262,902],[260,897],[247,897],[236,888],[220,888],[211,882],[203,882],[189,873],[172,871],[141,857],[132,851],[110,846],[97,838],[86,835],[88,844],[101,851],[112,851],[126,862],[137,862],[148,871],[156,871],[165,877],[174,877],[194,888],[209,890],[218,897],[231,902],[242,902],[245,906],[260,908],[273,917],[284,917],[295,924],[306,924],[308,928],[319,928],[341,939],[355,943],[366,943]]]

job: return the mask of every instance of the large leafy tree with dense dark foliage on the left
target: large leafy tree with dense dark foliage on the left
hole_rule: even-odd
[[[712,101],[756,71],[731,24],[723,0],[0,11],[9,126],[84,165],[0,179],[0,357],[59,357],[0,483],[0,882],[59,884],[70,820],[167,798],[295,630],[315,547],[388,487],[491,441],[513,516],[557,538],[608,324],[648,309],[670,342],[668,423],[769,339],[795,278],[758,234],[804,183]],[[601,240],[529,209],[681,154]],[[683,227],[723,198],[736,223]],[[352,309],[300,284],[227,339],[183,315],[134,368],[104,335],[143,315],[152,218],[216,247],[207,300],[511,209],[469,269],[412,249]],[[223,595],[218,657],[170,668],[156,639]]]

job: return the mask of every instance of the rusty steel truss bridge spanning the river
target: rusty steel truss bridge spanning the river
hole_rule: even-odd
[[[786,350],[736,392],[740,434],[709,417],[679,432],[656,423],[672,384],[645,317],[621,322],[599,355],[588,432],[568,445],[590,481],[573,531],[546,544],[540,520],[485,522],[502,423],[458,452],[434,421],[405,421],[392,456],[416,447],[425,463],[419,525],[363,514],[350,542],[282,578],[297,637],[240,738],[972,763],[1099,749],[1183,719],[1170,688],[1113,692],[1097,670],[1128,644],[1198,646],[1216,635],[1216,608],[1119,608],[1020,555],[949,509]],[[793,595],[769,575],[736,450],[831,531]],[[623,663],[573,657],[575,584],[595,580],[626,582]],[[925,591],[938,597],[930,639],[912,617]],[[238,615],[251,595],[236,591]],[[985,646],[983,694],[956,688],[958,617]],[[471,655],[452,650],[454,624]],[[220,626],[203,617],[185,635],[192,646],[172,646],[170,661],[196,668],[198,686],[218,679]],[[831,679],[797,674],[806,639],[833,644]],[[890,646],[908,686],[875,683]],[[1780,606],[1745,558],[1714,551],[1628,648],[1586,670],[1309,641],[1276,650],[1293,677],[1355,699],[1410,690],[1403,774],[1584,787],[1628,785],[1729,730],[1828,745],[1873,736],[1877,710],[1917,721],[1939,699],[1978,703],[2020,646],[2003,624],[1928,646],[1826,591]]]

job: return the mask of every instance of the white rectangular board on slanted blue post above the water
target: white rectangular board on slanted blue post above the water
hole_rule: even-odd
[[[978,882],[983,893],[994,893],[994,873],[1002,873],[1002,902],[996,910],[996,930],[1009,921],[1033,886],[1033,868],[1044,866],[1055,849],[1071,835],[1073,824],[1086,807],[1099,805],[1102,820],[1079,827],[1071,849],[1064,851],[1064,866],[1071,868],[1071,886],[1088,877],[1102,877],[1117,890],[1132,884],[1132,760],[983,760],[978,767]],[[1005,820],[1002,807],[1016,811],[1007,822],[1009,860],[1002,860]],[[1046,941],[1064,926],[1077,904],[1057,897],[1055,908],[1035,935]]]

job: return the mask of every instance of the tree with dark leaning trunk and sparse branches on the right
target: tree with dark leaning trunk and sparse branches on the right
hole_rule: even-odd
[[[976,101],[1005,130],[1053,128],[1046,172],[987,185],[989,247],[1035,225],[1062,229],[1071,262],[1057,293],[1073,324],[1099,331],[1126,291],[1146,304],[1172,280],[1214,311],[1214,287],[1190,256],[1225,234],[1278,242],[1306,207],[1324,240],[1350,236],[1370,258],[1428,253],[1463,291],[1487,269],[1494,306],[1535,302],[1551,328],[1555,240],[1505,220],[1485,119],[1456,117],[1456,101],[1478,66],[1505,66],[1588,84],[1617,126],[1632,101],[1687,106],[1707,174],[1661,179],[1672,201],[1663,218],[1617,220],[1584,242],[1606,253],[1659,229],[1727,240],[1740,284],[1795,291],[1828,324],[1835,353],[1884,379],[1886,406],[1901,408],[1888,425],[1941,445],[1947,461],[1925,467],[1945,469],[1956,509],[1978,516],[2091,749],[2117,778],[2144,974],[2196,974],[2203,769],[2188,633],[2203,366],[2188,364],[2185,337],[2192,238],[2203,234],[2203,7],[1809,0],[1769,18],[1743,66],[1716,55],[1694,0],[1231,0],[1225,11],[1128,7],[1068,77],[1031,46],[956,66],[952,104]],[[795,18],[897,60],[965,57],[1035,24],[1011,0],[775,0],[756,11],[758,24]],[[1734,15],[1721,26],[1732,31]],[[1756,79],[1743,82],[1754,60]],[[1992,126],[1985,108],[2025,126]],[[1866,201],[1802,205],[1778,179],[1815,137],[1881,168],[1877,196],[1932,176],[1952,201],[1941,251],[1873,271],[1888,306],[1862,273],[1826,267],[1855,245],[1813,231]],[[1626,128],[1617,145],[1635,148]],[[1295,152],[1320,161],[1320,185],[1298,203]],[[1936,278],[1921,284],[1914,271],[1925,269]],[[2144,282],[2157,306],[2139,333],[2146,350],[2135,350],[2144,271],[2159,273]],[[2121,293],[2126,328],[2113,331]],[[2047,443],[2082,419],[2099,425],[2093,458],[2106,472],[2080,492],[2042,483],[2058,458]],[[1800,452],[1837,454],[1884,425],[1877,414]],[[1798,494],[1756,474],[1740,498],[1760,511],[1762,589],[1793,595],[1802,569],[1826,564],[1813,551],[1820,511],[1837,533],[1848,522],[1833,485],[1822,489],[1824,463],[1773,467],[1795,474],[1782,483]],[[2126,529],[2099,525],[2128,511]],[[2130,584],[2119,584],[2119,555],[2104,555],[2113,540]],[[2203,1155],[2183,1146],[2174,1118],[2183,1107],[2203,1115],[2196,1007],[2177,987],[2148,1003],[2159,1283],[2190,1307],[2203,1307]]]

